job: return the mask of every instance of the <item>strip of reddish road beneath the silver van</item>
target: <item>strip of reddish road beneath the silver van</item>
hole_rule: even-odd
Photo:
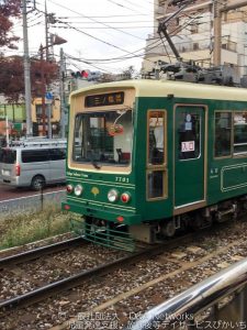
[[[65,185],[49,186],[45,188],[43,193],[45,194],[58,190],[65,190]],[[30,188],[14,188],[0,184],[0,201],[20,197],[29,197],[38,194],[38,191],[31,190]]]

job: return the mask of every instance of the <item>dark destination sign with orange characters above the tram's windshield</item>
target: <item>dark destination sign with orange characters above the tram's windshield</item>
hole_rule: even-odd
[[[123,91],[90,95],[85,98],[85,107],[87,108],[123,105]]]

